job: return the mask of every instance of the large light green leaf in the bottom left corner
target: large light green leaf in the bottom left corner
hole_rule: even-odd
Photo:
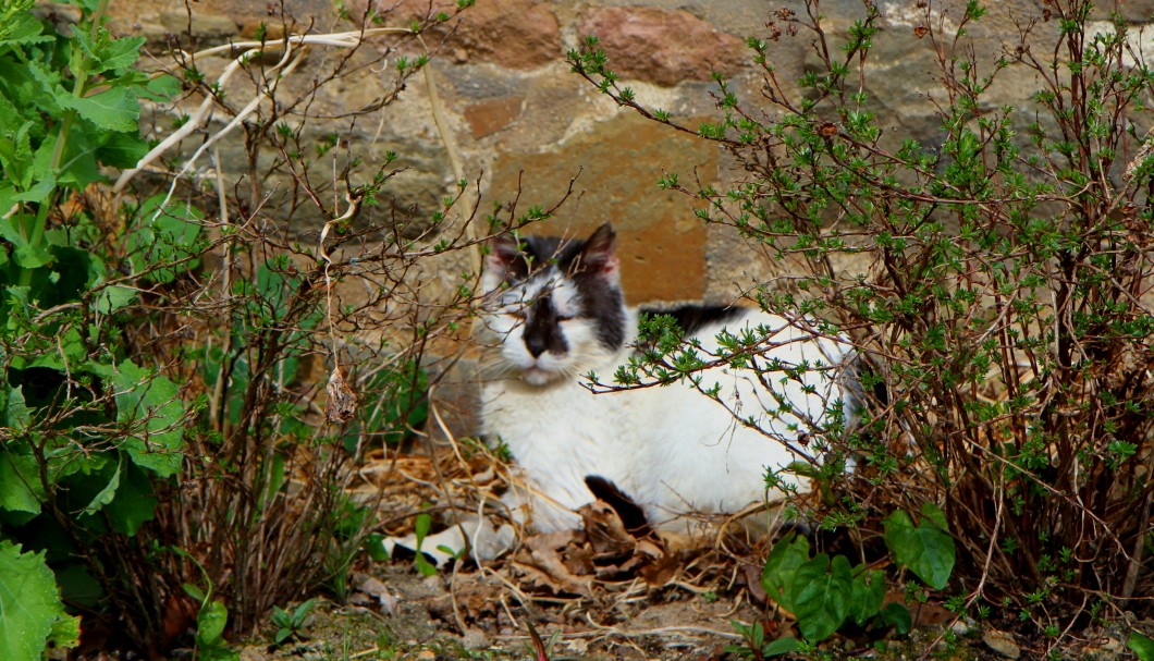
[[[42,553],[0,540],[0,659],[40,661],[50,643],[74,647],[80,622],[65,613]]]

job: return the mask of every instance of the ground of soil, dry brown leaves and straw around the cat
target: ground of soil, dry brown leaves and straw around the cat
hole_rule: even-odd
[[[418,512],[432,512],[437,529],[452,506],[477,511],[479,493],[502,488],[502,468],[484,450],[460,448],[436,463],[381,457],[361,472],[355,493],[380,509],[381,532],[400,536],[412,532]],[[455,562],[425,576],[411,556],[365,558],[342,603],[319,601],[297,636],[270,646],[270,629],[265,640],[242,648],[241,659],[747,661],[755,658],[735,623],[763,623],[765,640],[795,634],[792,618],[774,610],[759,585],[767,540],[713,536],[674,548],[655,535],[625,532],[612,509],[591,508],[584,516],[584,531],[522,531],[518,548],[481,566]],[[932,602],[912,615],[907,636],[839,634],[796,658],[1115,661],[1137,658],[1125,644],[1129,631],[1154,632],[1154,622],[1123,617],[1130,628],[1024,639],[1012,618],[958,621]],[[531,629],[544,654],[534,651]]]

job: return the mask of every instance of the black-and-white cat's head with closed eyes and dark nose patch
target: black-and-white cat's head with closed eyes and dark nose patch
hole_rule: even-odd
[[[493,368],[533,385],[572,378],[625,341],[616,233],[587,239],[497,236],[489,242],[481,331],[499,346]]]

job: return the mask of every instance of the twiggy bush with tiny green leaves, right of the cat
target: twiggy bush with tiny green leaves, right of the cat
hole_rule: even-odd
[[[1054,647],[1087,604],[1144,610],[1154,594],[1154,72],[1123,20],[1089,29],[1085,0],[1039,6],[998,52],[967,36],[980,2],[959,7],[949,32],[931,5],[919,3],[915,31],[885,38],[915,40],[937,62],[909,81],[936,103],[935,144],[883,130],[901,118],[869,92],[872,2],[841,35],[817,0],[775,12],[748,40],[760,93],[714,76],[718,115],[696,127],[647,107],[594,37],[569,61],[617,104],[728,151],[739,174],[724,189],[672,172],[659,185],[778,264],[752,302],[856,347],[861,420],[807,431],[860,460],[848,475],[838,461],[817,470],[835,488],[812,514],[862,540],[884,534],[898,564],[959,614],[1033,622]],[[788,38],[811,43],[817,62],[796,85],[773,65],[772,43]],[[1025,106],[994,98],[1012,69],[1039,81]],[[691,373],[681,351],[654,352],[623,383]],[[938,533],[883,523],[926,503],[957,544],[949,581]],[[902,557],[919,546],[922,559]],[[827,580],[857,576],[824,562]],[[823,604],[832,617],[820,623],[797,615],[818,636],[847,609]]]

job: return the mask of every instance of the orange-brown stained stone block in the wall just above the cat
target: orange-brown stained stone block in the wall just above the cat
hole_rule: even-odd
[[[659,190],[657,181],[662,167],[683,180],[696,172],[713,181],[717,163],[712,144],[620,114],[548,152],[497,155],[489,204],[514,200],[519,185],[519,213],[530,205],[549,208],[579,172],[574,196],[529,232],[585,236],[612,221],[629,302],[696,300],[705,291],[705,227],[691,200]]]

